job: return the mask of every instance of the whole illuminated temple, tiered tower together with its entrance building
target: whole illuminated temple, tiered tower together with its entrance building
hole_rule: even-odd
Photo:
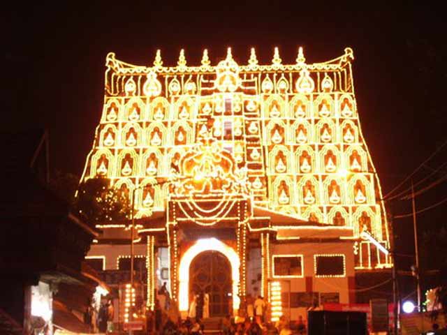
[[[358,273],[393,265],[353,51],[316,64],[302,48],[291,63],[277,48],[265,65],[254,49],[248,62],[222,56],[211,64],[205,50],[195,66],[184,50],[177,66],[163,66],[159,51],[152,66],[106,58],[82,181],[107,177],[135,195],[137,295],[154,308],[166,282],[183,316],[191,292],[210,293],[211,316],[243,314],[247,295],[261,295],[271,320],[355,302]],[[98,225],[87,256],[119,290],[129,283],[130,227]]]

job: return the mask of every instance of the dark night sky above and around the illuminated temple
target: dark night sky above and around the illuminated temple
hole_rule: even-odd
[[[230,46],[236,61],[246,64],[250,47],[256,47],[260,63],[270,64],[277,46],[283,63],[291,64],[300,45],[309,63],[352,47],[362,131],[384,194],[447,140],[447,29],[440,8],[376,1],[362,10],[337,1],[324,6],[302,1],[37,2],[15,1],[2,10],[0,128],[47,128],[53,172],[82,173],[101,116],[110,51],[128,63],[151,65],[161,49],[164,64],[175,65],[184,48],[188,64],[200,64],[206,47],[216,64]],[[447,161],[446,153],[447,148],[415,180]],[[416,205],[444,199],[446,184],[420,195]],[[402,191],[408,187],[404,184]],[[387,206],[393,214],[411,211],[409,201]],[[446,209],[447,202],[418,217],[421,236],[445,224]],[[413,253],[411,218],[395,220],[395,230],[397,248]]]

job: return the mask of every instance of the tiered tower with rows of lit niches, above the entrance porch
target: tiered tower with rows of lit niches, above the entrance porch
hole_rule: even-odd
[[[109,177],[137,187],[138,216],[163,210],[182,158],[203,139],[230,152],[256,205],[309,221],[351,226],[389,243],[381,188],[360,128],[353,89],[353,51],[307,64],[302,48],[284,64],[251,49],[237,64],[231,49],[212,65],[207,50],[189,66],[152,66],[106,58],[105,97],[83,179]],[[152,185],[141,187],[144,185]],[[131,192],[129,192],[131,194]],[[366,267],[367,265],[365,265]]]

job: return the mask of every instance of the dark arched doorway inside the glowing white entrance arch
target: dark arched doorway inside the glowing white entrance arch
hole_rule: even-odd
[[[210,317],[232,313],[231,265],[219,251],[199,253],[189,267],[189,292],[208,292]]]

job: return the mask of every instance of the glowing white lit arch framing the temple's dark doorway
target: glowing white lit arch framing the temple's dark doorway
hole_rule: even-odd
[[[191,246],[180,260],[179,266],[179,311],[187,312],[189,308],[189,266],[192,260],[203,251],[219,251],[230,261],[231,278],[233,280],[233,313],[239,309],[239,266],[240,260],[233,248],[227,246],[219,239],[199,239]]]

